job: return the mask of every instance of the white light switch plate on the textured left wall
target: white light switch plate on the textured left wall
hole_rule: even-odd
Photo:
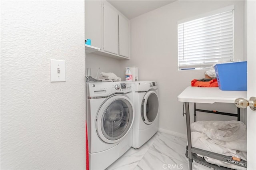
[[[65,61],[50,59],[51,82],[65,82]]]

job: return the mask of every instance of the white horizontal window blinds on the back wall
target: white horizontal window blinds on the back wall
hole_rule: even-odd
[[[233,61],[233,10],[178,24],[178,68]]]

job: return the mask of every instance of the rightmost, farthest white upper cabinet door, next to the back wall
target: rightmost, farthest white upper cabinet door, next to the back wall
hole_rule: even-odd
[[[130,23],[119,15],[119,55],[129,58],[130,53]]]

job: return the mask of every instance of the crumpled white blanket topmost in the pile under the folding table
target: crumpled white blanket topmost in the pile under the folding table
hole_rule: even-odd
[[[246,125],[241,121],[197,121],[191,124],[191,131],[204,132],[218,144],[237,140],[246,134]]]

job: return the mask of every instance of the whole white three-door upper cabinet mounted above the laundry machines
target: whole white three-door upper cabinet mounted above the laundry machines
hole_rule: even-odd
[[[92,53],[129,59],[130,21],[105,0],[86,0],[85,10],[85,38],[100,48]]]

